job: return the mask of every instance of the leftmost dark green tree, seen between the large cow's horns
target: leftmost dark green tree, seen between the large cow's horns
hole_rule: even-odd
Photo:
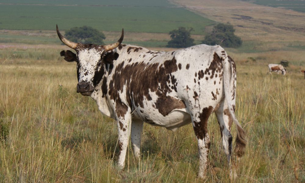
[[[65,37],[73,42],[96,45],[103,45],[106,38],[102,32],[89,26],[73,27],[66,31]]]

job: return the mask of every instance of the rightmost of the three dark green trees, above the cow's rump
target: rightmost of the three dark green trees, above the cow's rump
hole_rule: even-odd
[[[214,26],[212,32],[207,34],[202,41],[206,45],[221,45],[237,48],[242,45],[242,39],[234,34],[235,29],[231,24],[219,23]]]

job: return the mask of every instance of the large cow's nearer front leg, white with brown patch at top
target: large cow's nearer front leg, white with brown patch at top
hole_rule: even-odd
[[[123,169],[125,167],[126,151],[128,146],[131,113],[130,109],[123,103],[117,102],[116,105],[117,126],[118,126],[118,144],[120,148],[118,158],[118,168]]]

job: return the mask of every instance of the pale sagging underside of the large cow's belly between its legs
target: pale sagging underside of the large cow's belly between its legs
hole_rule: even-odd
[[[175,109],[166,116],[152,112],[149,115],[145,115],[145,117],[141,115],[141,117],[137,116],[136,118],[140,118],[153,126],[166,127],[171,131],[176,131],[179,127],[191,123],[191,116],[185,109]]]

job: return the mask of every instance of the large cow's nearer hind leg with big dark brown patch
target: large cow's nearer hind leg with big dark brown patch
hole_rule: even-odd
[[[195,135],[198,140],[199,150],[199,178],[206,177],[206,166],[208,162],[208,153],[210,148],[210,138],[207,133],[207,123],[210,114],[213,112],[213,107],[204,107],[198,112],[194,111],[191,115],[192,124],[195,131]]]

